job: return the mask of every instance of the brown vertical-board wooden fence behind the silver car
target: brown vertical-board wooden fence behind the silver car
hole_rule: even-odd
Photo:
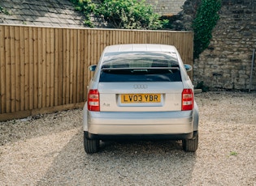
[[[110,44],[172,44],[193,63],[193,33],[0,25],[0,120],[81,108]]]

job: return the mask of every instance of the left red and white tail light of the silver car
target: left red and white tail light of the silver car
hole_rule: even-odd
[[[97,89],[89,90],[87,105],[89,111],[100,111],[99,93]]]

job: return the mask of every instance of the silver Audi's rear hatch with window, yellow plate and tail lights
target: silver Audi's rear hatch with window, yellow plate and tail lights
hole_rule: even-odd
[[[94,111],[181,111],[189,103],[176,53],[106,53],[100,70],[89,99]]]

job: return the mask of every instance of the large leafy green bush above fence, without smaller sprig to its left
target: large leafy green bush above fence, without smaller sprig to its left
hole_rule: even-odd
[[[159,15],[154,14],[152,6],[145,5],[144,0],[104,0],[97,13],[118,28],[158,29],[167,23],[159,20]]]

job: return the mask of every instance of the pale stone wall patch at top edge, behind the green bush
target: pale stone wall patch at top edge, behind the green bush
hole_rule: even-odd
[[[181,6],[185,0],[145,0],[153,6],[155,12],[159,15],[176,15],[182,11]]]

